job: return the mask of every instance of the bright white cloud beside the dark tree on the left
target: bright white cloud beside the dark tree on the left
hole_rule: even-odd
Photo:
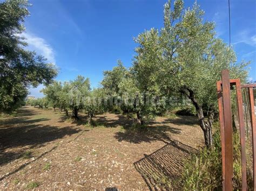
[[[37,37],[31,33],[24,32],[19,34],[20,37],[25,37],[24,40],[28,43],[28,48],[32,51],[36,51],[36,53],[43,55],[49,62],[55,64],[55,53],[52,47],[46,43],[45,39]]]

